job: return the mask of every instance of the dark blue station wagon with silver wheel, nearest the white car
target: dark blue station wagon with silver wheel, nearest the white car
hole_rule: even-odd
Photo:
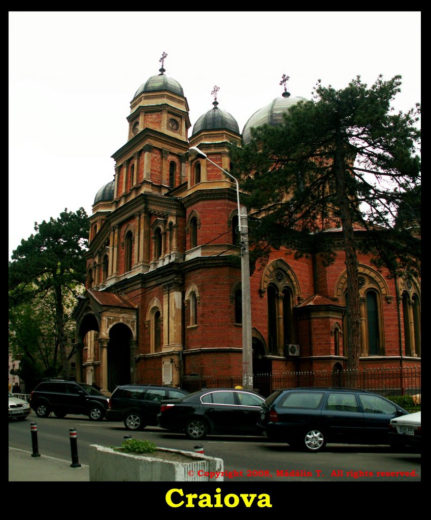
[[[285,388],[265,400],[258,426],[272,439],[316,452],[326,443],[390,444],[389,421],[407,413],[355,388]]]

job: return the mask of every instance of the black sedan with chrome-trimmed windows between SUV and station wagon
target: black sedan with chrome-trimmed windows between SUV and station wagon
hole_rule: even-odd
[[[265,398],[232,388],[205,388],[179,399],[166,399],[157,416],[159,426],[185,432],[199,440],[211,434],[261,435],[257,426]]]

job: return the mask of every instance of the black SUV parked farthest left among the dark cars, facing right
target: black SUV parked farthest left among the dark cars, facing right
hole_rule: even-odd
[[[38,417],[56,417],[68,413],[88,415],[92,421],[101,421],[108,409],[108,397],[94,386],[75,381],[50,380],[36,386],[31,393],[30,406]]]

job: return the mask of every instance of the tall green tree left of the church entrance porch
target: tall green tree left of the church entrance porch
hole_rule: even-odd
[[[34,229],[9,262],[10,348],[28,357],[35,370],[40,365],[56,374],[60,368],[68,379],[66,346],[74,335],[69,315],[85,282],[88,218],[82,208],[64,210],[57,219],[35,223]]]

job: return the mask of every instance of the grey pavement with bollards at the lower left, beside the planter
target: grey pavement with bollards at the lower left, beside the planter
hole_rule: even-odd
[[[89,482],[89,467],[70,467],[70,460],[9,447],[9,482]]]

